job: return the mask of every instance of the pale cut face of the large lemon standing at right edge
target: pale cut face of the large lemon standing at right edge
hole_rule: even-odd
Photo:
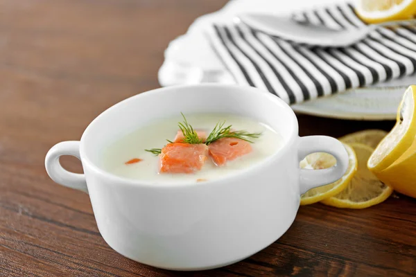
[[[416,86],[410,86],[397,111],[397,122],[385,136],[368,160],[367,166],[372,172],[388,168],[406,152],[416,136]]]

